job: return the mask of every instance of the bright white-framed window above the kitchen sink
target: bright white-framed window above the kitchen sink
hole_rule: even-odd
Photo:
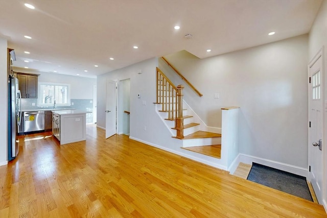
[[[39,82],[38,106],[71,106],[71,85]]]

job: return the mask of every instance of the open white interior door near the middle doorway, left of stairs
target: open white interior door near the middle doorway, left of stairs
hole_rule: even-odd
[[[116,82],[107,81],[106,90],[106,138],[116,134]]]

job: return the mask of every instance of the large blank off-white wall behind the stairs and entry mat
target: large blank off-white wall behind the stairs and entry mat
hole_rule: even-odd
[[[308,35],[206,59],[185,51],[165,58],[203,94],[185,88],[184,99],[207,126],[221,127],[222,107],[241,107],[240,153],[308,167]]]

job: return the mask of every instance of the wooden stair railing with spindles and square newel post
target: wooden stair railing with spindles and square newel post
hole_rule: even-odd
[[[177,128],[177,137],[183,138],[183,94],[184,86],[177,87],[157,67],[157,104],[161,105],[161,111],[168,112],[168,119],[174,120]]]

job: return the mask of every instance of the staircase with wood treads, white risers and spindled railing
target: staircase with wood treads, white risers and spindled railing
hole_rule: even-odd
[[[221,134],[204,131],[205,124],[183,101],[184,87],[175,86],[158,67],[156,87],[158,114],[181,148],[220,159]]]

